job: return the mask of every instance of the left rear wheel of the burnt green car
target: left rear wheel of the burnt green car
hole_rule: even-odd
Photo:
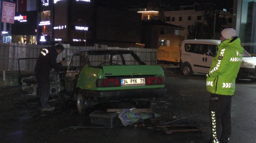
[[[81,115],[89,114],[92,111],[92,101],[86,98],[82,91],[79,91],[76,96],[76,108]]]

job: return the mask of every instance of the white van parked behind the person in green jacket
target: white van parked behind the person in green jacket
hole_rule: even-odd
[[[190,76],[194,72],[208,73],[220,42],[220,40],[210,39],[184,40],[181,45],[180,59],[182,74]],[[256,57],[252,57],[245,50],[238,79],[256,79]]]

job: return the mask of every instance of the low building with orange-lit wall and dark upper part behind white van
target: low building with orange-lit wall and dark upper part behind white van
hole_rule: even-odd
[[[142,43],[145,43],[145,48],[156,49],[157,47],[158,63],[178,64],[180,45],[184,40],[179,32],[184,29],[156,20],[143,21]]]

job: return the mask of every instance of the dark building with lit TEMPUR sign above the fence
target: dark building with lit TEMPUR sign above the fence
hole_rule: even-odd
[[[141,42],[141,20],[136,12],[93,0],[39,0],[38,39],[39,44],[136,47]]]

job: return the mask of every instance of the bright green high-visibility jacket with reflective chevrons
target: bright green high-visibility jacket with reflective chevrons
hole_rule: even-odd
[[[206,79],[206,88],[210,93],[229,96],[234,94],[243,52],[238,37],[229,38],[218,45],[217,55],[212,60]]]

